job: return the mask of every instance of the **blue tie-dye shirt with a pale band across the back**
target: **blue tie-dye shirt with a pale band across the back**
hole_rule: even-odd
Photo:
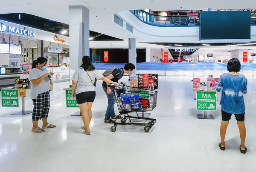
[[[243,114],[244,95],[247,93],[246,77],[225,73],[220,76],[216,91],[220,92],[221,88],[221,109],[230,114]]]

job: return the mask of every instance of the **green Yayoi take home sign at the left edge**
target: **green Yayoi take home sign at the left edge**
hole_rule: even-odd
[[[2,106],[19,107],[19,97],[17,89],[2,89]]]

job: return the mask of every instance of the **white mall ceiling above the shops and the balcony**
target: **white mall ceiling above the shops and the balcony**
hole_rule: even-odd
[[[113,22],[111,19],[113,15],[121,11],[134,9],[180,10],[181,7],[182,10],[256,9],[255,0],[197,0],[196,2],[191,0],[1,0],[0,4],[1,14],[27,13],[67,24],[69,24],[69,6],[84,6],[90,10],[90,30],[125,40],[91,41],[91,48],[128,48],[128,38],[130,37],[137,38],[137,42],[145,42]],[[147,40],[147,42],[150,41],[154,42],[154,40]],[[144,43],[137,43],[137,47],[164,48]]]

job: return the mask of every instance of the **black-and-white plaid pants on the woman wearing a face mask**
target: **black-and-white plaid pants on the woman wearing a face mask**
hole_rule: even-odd
[[[32,99],[34,109],[32,112],[32,120],[41,120],[48,118],[50,109],[50,92],[44,92],[38,95],[36,99]]]

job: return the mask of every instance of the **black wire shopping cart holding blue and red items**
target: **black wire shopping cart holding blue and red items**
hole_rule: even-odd
[[[118,116],[124,115],[120,123],[115,120],[114,126],[110,129],[111,132],[116,131],[117,125],[145,126],[145,132],[149,132],[157,120],[140,117],[138,112],[143,112],[144,114],[144,112],[152,111],[157,106],[157,91],[134,88],[127,86],[125,83],[117,86],[109,85],[109,87],[116,97],[116,104],[119,110]],[[136,116],[128,115],[131,112],[135,112]]]

